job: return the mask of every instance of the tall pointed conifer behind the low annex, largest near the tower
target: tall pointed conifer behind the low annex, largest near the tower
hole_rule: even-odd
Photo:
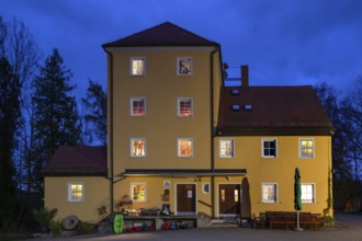
[[[80,125],[77,103],[71,95],[71,72],[63,62],[57,49],[46,58],[44,67],[33,82],[34,94],[34,154],[35,190],[42,191],[41,171],[59,146],[79,142]]]

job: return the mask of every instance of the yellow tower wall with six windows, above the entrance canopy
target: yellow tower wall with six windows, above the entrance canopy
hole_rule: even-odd
[[[129,76],[131,57],[146,57],[145,77]],[[177,76],[177,57],[192,57],[192,76]],[[216,59],[208,48],[114,51],[115,174],[125,169],[211,168],[211,58]],[[219,62],[214,64],[215,68],[219,68],[216,65]],[[215,76],[218,78],[216,85],[219,85],[219,74],[216,72]],[[146,97],[147,113],[144,117],[129,115],[129,99],[135,96]],[[193,99],[192,117],[177,116],[177,97]],[[147,157],[129,157],[129,139],[133,137],[147,139]],[[193,138],[192,158],[177,157],[178,138]]]

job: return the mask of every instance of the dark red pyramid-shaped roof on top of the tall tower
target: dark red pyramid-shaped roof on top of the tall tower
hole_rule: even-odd
[[[140,46],[219,46],[173,23],[165,22],[131,36],[103,45],[105,47]]]

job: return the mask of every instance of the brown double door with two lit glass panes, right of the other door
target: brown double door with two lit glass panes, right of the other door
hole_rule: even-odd
[[[218,211],[219,216],[240,215],[240,184],[218,185]]]

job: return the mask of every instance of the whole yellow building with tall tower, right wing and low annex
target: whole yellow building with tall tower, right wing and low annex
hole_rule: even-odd
[[[226,87],[220,45],[169,22],[103,48],[106,173],[57,174],[50,160],[45,205],[59,218],[97,221],[101,206],[212,218],[291,211],[295,168],[303,210],[327,208],[333,128],[312,87],[250,87],[247,66],[241,87]],[[69,200],[71,183],[79,202]]]

